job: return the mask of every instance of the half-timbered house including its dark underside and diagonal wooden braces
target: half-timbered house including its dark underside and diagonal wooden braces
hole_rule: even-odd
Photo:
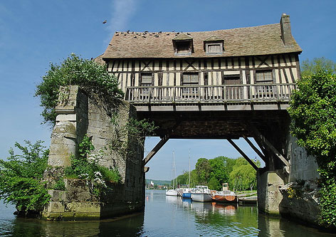
[[[116,32],[97,60],[137,116],[159,126],[159,147],[169,138],[254,137],[272,157],[285,153],[301,51],[283,14],[280,23],[228,30]],[[283,156],[261,158],[267,169],[289,165]]]

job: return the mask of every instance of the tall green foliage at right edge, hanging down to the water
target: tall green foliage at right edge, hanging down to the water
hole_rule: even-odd
[[[298,81],[288,112],[298,145],[316,157],[320,172],[320,222],[336,226],[336,75],[320,70]]]

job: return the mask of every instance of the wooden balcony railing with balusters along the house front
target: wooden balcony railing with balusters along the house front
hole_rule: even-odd
[[[289,102],[295,83],[248,85],[176,85],[127,87],[125,100],[165,102]]]

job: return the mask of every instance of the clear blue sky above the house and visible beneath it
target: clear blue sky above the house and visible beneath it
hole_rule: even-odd
[[[290,15],[293,36],[303,48],[300,60],[336,61],[336,1],[1,1],[0,3],[0,158],[23,139],[50,144],[51,129],[41,125],[34,98],[49,63],[70,53],[94,58],[105,51],[114,31],[211,31],[278,23]],[[107,20],[106,24],[102,22]],[[146,150],[157,138],[149,138]],[[256,157],[243,141],[246,154]],[[199,157],[239,157],[228,142],[170,140],[149,163],[149,179],[171,179],[172,150],[177,174]],[[191,167],[191,169],[192,169]]]

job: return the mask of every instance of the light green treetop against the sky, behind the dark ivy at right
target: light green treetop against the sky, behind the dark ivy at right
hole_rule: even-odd
[[[301,75],[313,75],[319,70],[326,70],[327,73],[336,73],[336,63],[327,58],[314,58],[303,60],[301,63]]]

